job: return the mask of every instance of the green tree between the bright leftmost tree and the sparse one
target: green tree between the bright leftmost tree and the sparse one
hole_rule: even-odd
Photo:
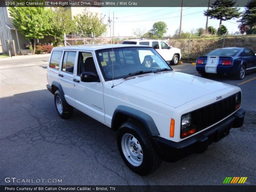
[[[60,43],[64,39],[64,33],[76,31],[76,23],[72,20],[71,11],[65,10],[64,7],[53,8],[53,12],[51,35]]]

